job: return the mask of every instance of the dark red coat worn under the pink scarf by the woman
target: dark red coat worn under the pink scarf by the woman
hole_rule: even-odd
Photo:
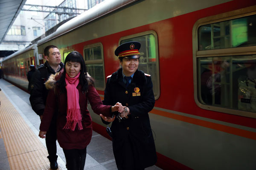
[[[83,93],[82,86],[79,84],[77,89],[79,90],[79,105],[82,114],[83,129],[78,130],[78,126],[76,126],[74,131],[63,129],[67,122],[67,92],[61,93],[58,86],[55,89],[55,93],[53,90],[49,91],[40,130],[48,130],[52,116],[55,112],[55,107],[58,107],[58,143],[63,149],[84,149],[90,143],[92,137],[92,118],[87,109],[88,101],[90,102],[93,111],[97,114],[102,113],[104,115],[109,115],[111,106],[102,104],[102,100],[100,99],[98,92],[92,85],[88,86],[88,93]]]

